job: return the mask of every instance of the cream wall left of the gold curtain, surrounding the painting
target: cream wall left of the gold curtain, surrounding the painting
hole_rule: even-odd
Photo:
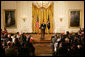
[[[2,1],[1,28],[4,28],[4,9],[16,9],[17,28],[7,29],[10,33],[32,32],[32,2],[31,1]],[[23,21],[25,18],[25,22]]]

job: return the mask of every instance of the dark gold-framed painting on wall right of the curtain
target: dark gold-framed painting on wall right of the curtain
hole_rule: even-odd
[[[81,11],[70,10],[69,11],[69,27],[80,28],[81,26]]]

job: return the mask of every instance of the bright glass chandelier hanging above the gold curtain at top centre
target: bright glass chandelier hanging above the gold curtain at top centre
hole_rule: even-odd
[[[52,1],[33,1],[33,4],[38,8],[48,8],[51,5]]]

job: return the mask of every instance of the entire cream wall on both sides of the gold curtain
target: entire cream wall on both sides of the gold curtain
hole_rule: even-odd
[[[32,1],[2,1],[1,2],[1,28],[4,28],[4,9],[16,9],[17,28],[7,29],[8,32],[32,32]],[[83,1],[54,1],[53,32],[62,33],[67,30],[77,32],[79,28],[69,28],[69,9],[81,10],[81,28],[84,28],[84,2]],[[60,18],[62,17],[62,22]],[[26,21],[23,21],[23,18]]]

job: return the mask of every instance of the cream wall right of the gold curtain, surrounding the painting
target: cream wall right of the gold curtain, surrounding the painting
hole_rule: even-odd
[[[84,28],[83,1],[55,1],[54,2],[54,32],[77,32],[79,28],[69,28],[69,9],[81,10],[81,28]],[[60,22],[62,17],[63,21]]]

